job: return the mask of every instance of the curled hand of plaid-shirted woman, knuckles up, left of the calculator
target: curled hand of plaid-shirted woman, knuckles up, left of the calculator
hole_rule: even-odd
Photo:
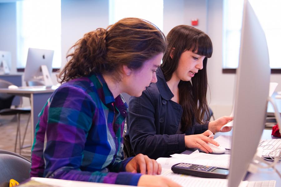
[[[143,154],[136,155],[126,165],[126,171],[132,173],[146,174],[147,172],[148,175],[160,175],[161,170],[161,165],[158,162]]]

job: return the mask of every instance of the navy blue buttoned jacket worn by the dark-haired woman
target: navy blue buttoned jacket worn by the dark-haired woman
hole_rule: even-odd
[[[185,135],[203,133],[209,124],[209,121],[203,125],[194,121],[185,134],[176,134],[182,107],[171,100],[174,94],[160,68],[156,76],[157,83],[150,84],[141,97],[130,98],[126,133],[134,153],[142,153],[152,159],[185,151]]]

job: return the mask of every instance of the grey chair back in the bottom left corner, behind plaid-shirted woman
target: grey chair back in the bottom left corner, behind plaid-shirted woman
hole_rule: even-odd
[[[10,179],[19,183],[27,180],[30,167],[31,162],[20,155],[0,153],[0,186],[9,186]]]

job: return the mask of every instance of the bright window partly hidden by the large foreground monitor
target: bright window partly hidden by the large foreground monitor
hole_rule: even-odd
[[[281,69],[279,46],[281,43],[280,0],[249,0],[262,25],[272,69]],[[224,0],[223,68],[237,68],[244,0]]]

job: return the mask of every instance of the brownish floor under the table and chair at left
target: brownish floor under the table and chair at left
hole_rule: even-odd
[[[28,114],[21,115],[21,138],[23,138],[25,126],[28,120]],[[0,116],[0,149],[14,152],[16,133],[17,133],[17,118],[14,115]],[[24,145],[31,145],[31,124],[29,122],[27,128],[27,134],[25,137]],[[31,150],[31,147],[26,149]],[[25,151],[23,151],[25,152]],[[19,146],[17,143],[17,153],[19,153]],[[27,159],[30,159],[29,155],[22,153]]]

